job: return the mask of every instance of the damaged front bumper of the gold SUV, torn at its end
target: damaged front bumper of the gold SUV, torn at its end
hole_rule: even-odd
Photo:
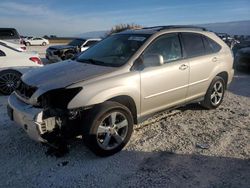
[[[8,99],[8,115],[10,119],[22,127],[29,137],[37,142],[47,141],[41,137],[42,132],[42,109],[34,108],[20,101],[14,93]]]

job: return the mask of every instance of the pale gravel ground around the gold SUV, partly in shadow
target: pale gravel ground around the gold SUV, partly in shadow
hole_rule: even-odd
[[[99,158],[77,140],[62,158],[30,140],[0,96],[0,187],[250,187],[250,75],[237,73],[216,110],[188,105],[135,127]]]

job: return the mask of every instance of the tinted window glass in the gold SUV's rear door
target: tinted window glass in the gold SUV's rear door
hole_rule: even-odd
[[[202,36],[200,34],[182,33],[181,35],[187,57],[196,57],[205,54]]]

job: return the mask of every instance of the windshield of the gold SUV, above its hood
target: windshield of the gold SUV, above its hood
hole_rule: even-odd
[[[116,34],[107,37],[77,57],[77,61],[119,67],[139,49],[150,35]]]

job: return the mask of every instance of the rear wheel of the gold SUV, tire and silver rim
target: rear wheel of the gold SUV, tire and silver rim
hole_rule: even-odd
[[[224,79],[216,76],[211,82],[201,105],[207,109],[217,108],[223,101],[225,89],[226,86]]]

